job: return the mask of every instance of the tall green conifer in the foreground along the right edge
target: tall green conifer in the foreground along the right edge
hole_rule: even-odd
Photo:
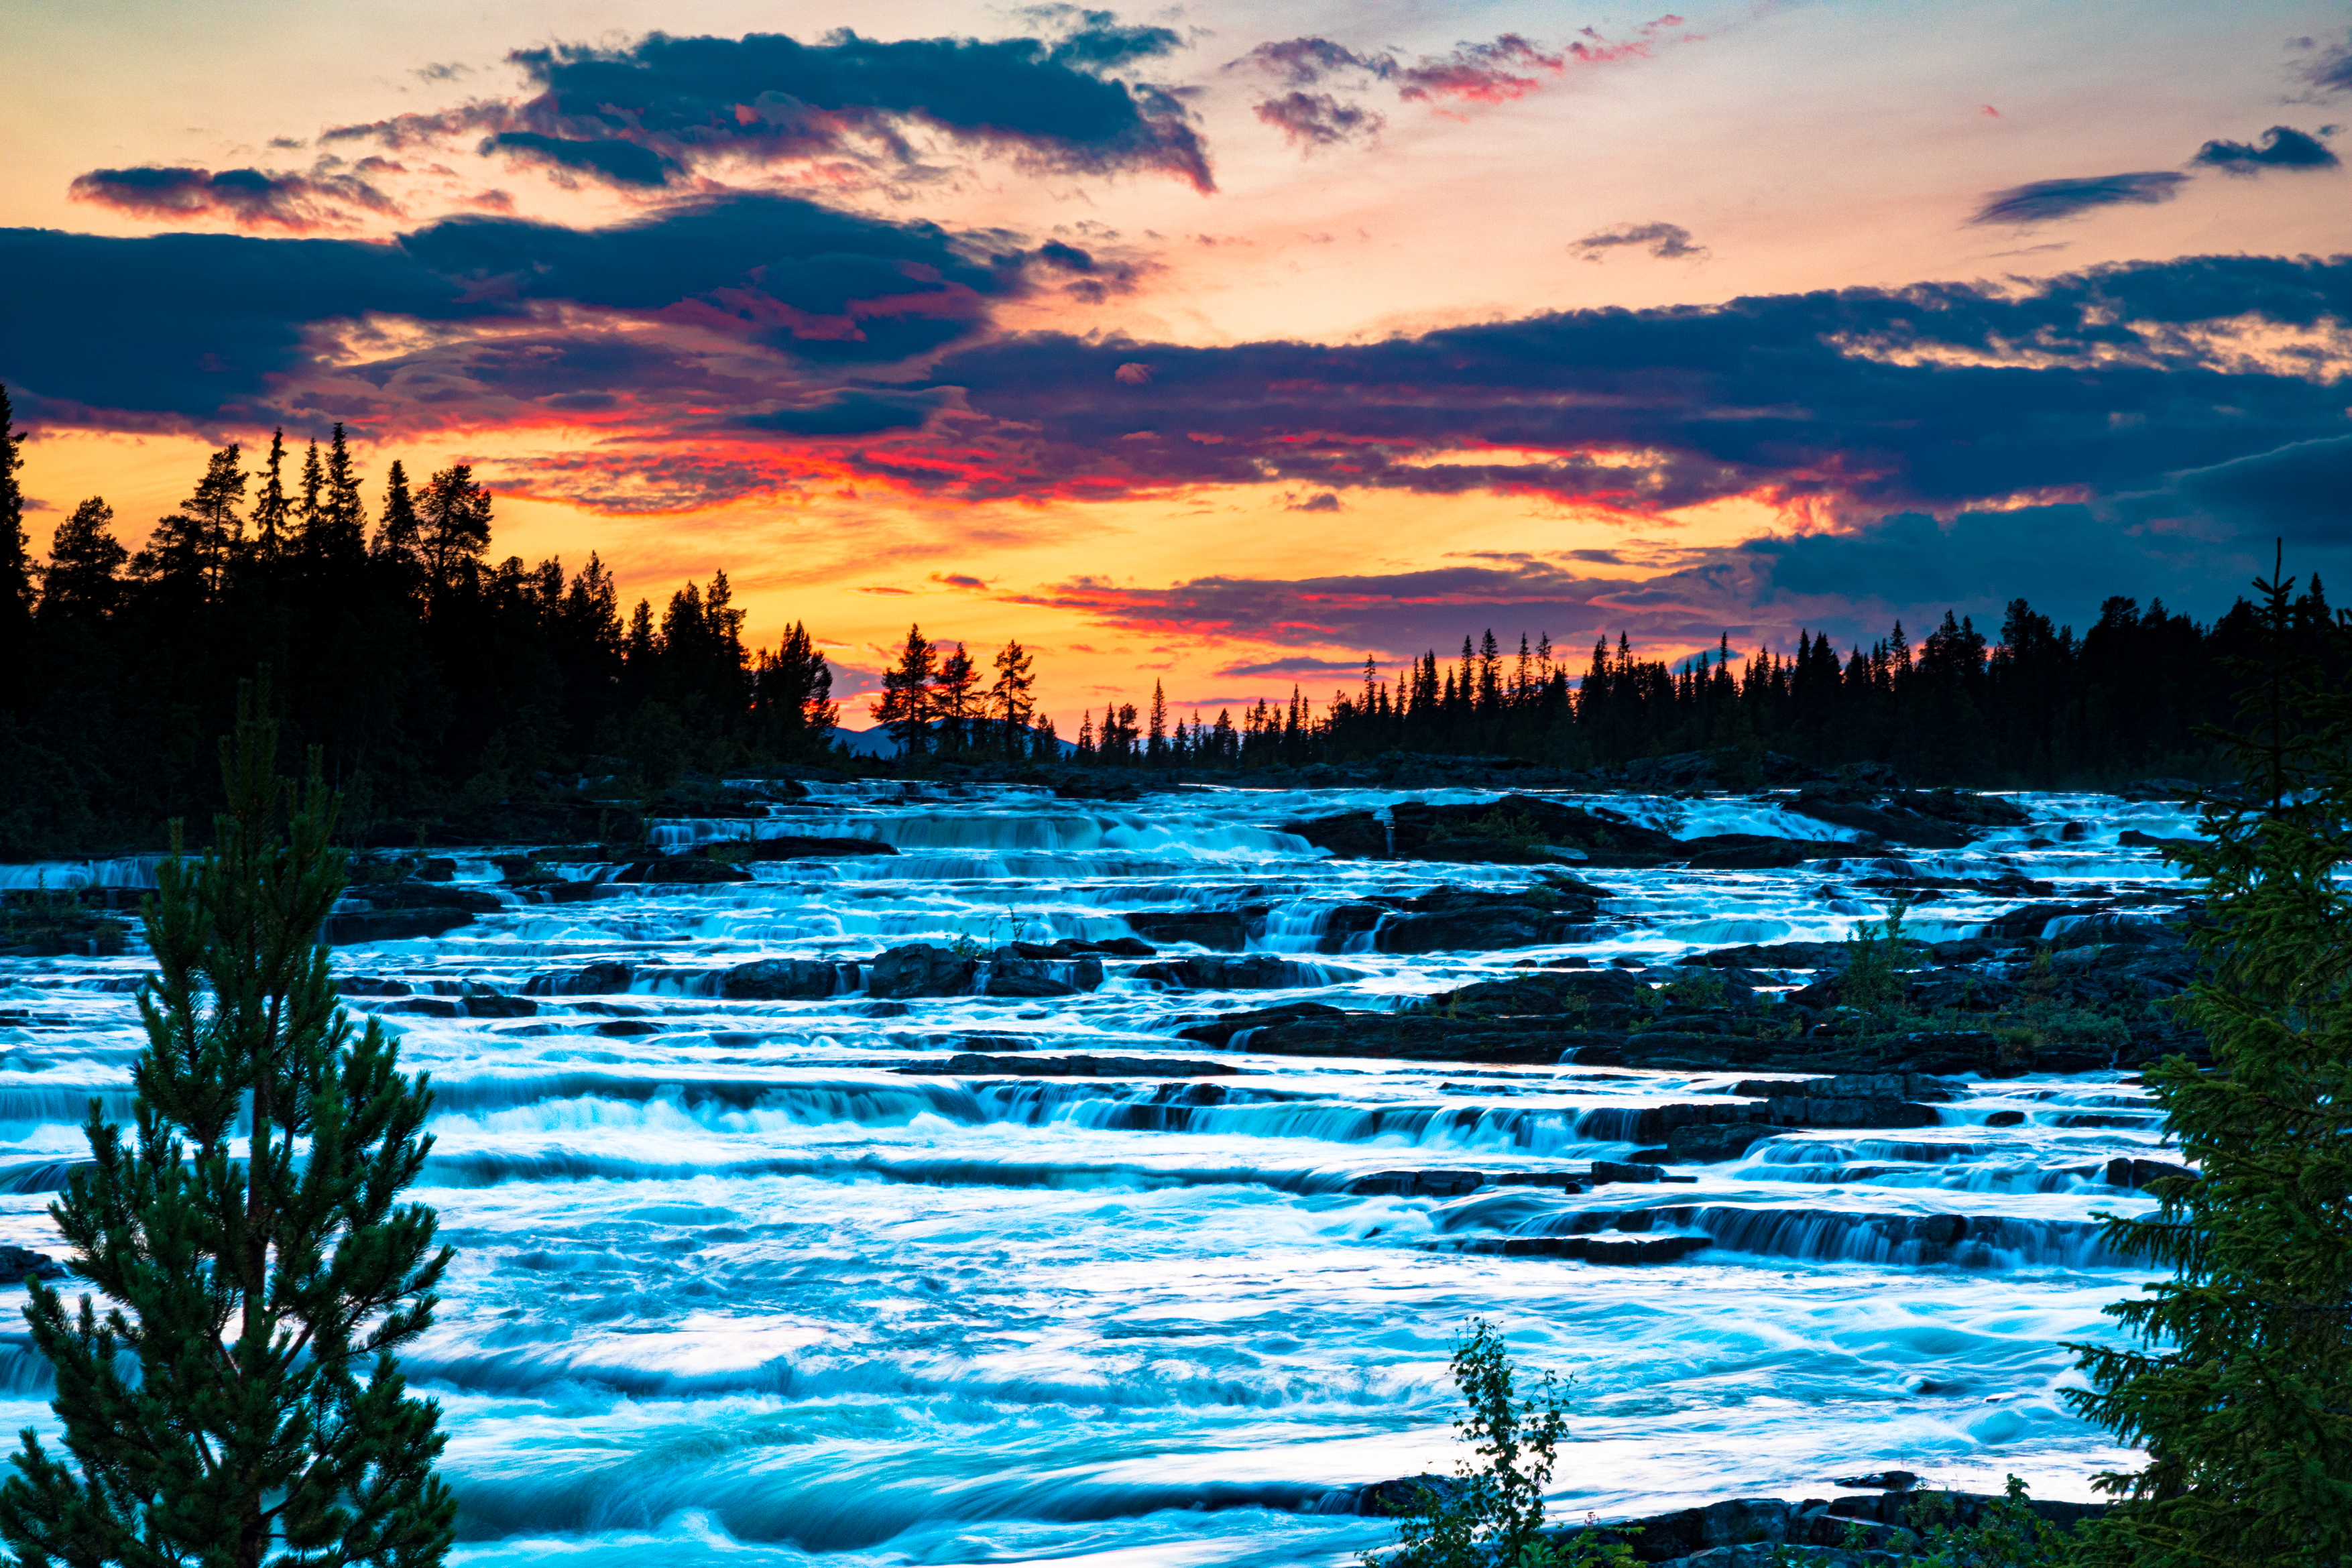
[[[2230,736],[2244,797],[2209,797],[2190,1009],[2211,1067],[2147,1074],[2194,1178],[2107,1241],[2173,1269],[2107,1312],[2136,1345],[2077,1347],[2074,1403],[2147,1450],[2100,1561],[2352,1563],[2352,696],[2291,649],[2293,581],[2258,581],[2272,656]],[[2338,614],[2338,649],[2352,618]]]

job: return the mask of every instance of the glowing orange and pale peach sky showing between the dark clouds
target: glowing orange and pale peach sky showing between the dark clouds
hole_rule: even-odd
[[[1063,12],[1061,24],[1073,24],[1075,12]],[[1178,35],[1174,49],[1127,75],[1178,94],[1207,148],[1211,193],[1167,169],[1051,167],[1054,158],[1035,146],[976,146],[924,125],[906,127],[896,162],[722,158],[654,193],[485,155],[473,134],[452,134],[440,146],[386,150],[400,169],[369,176],[386,209],[313,214],[310,233],[388,242],[480,212],[485,200],[515,216],[590,228],[734,190],[786,190],[891,223],[1080,247],[1120,282],[1098,299],[1047,287],[1009,292],[985,306],[976,331],[995,341],[1028,331],[1131,339],[1138,360],[1150,360],[1150,346],[1381,343],[1552,310],[1715,306],[1922,280],[1999,292],[2114,261],[2352,249],[2340,169],[2241,179],[2190,165],[2209,139],[2251,143],[2270,125],[2317,134],[2343,118],[2343,101],[2312,66],[2343,35],[2343,9],[2333,5],[1738,5],[1693,9],[1679,21],[1559,5],[1190,5],[1124,21]],[[12,146],[0,167],[0,223],[285,237],[285,226],[141,214],[75,200],[71,188],[92,169],[322,176],[322,158],[348,169],[367,148],[320,141],[322,129],[515,101],[527,87],[506,56],[522,47],[628,49],[656,26],[673,35],[781,31],[802,40],[854,26],[877,40],[920,40],[1040,28],[1051,35],[1061,24],[981,5],[842,9],[797,0],[494,9],[230,0],[200,14],[160,0],[19,5],[0,61],[0,120]],[[1414,61],[1486,59],[1477,47],[1510,35],[1559,66],[1526,68],[1524,87],[1484,99],[1409,99],[1395,87],[1409,75],[1362,71],[1312,82],[1381,125],[1308,150],[1256,108],[1284,87],[1251,63],[1268,42],[1324,38],[1409,73]],[[1566,54],[1578,38],[1590,40],[1588,54]],[[2169,200],[2037,223],[1969,223],[1992,193],[2032,181],[2180,169],[2192,179],[2169,188]],[[1663,247],[1668,254],[1656,244],[1578,244],[1637,226],[1675,226],[1686,244]],[[395,355],[412,362],[428,341],[433,353],[459,353],[475,331],[390,317],[367,327],[365,341],[348,324],[310,334],[310,381],[341,376],[358,388],[353,409],[365,402],[360,393],[374,395],[362,386],[372,367]],[[673,339],[682,331],[675,313],[637,329]],[[2263,324],[2249,331],[2260,336]],[[2333,369],[2305,364],[2296,374],[2340,374],[2340,329],[2321,329],[2319,341],[2336,355]],[[31,386],[9,369],[5,331],[0,376]],[[602,390],[590,381],[583,376],[581,388]],[[1112,395],[1120,390],[1105,386],[1103,397]],[[755,637],[807,621],[851,670],[880,663],[910,618],[934,637],[978,646],[1016,635],[1040,654],[1047,708],[1065,729],[1075,729],[1080,708],[1108,693],[1141,698],[1152,679],[1167,682],[1178,703],[1282,696],[1298,672],[1319,693],[1331,684],[1324,668],[1352,665],[1367,651],[1383,663],[1409,651],[1402,639],[1367,649],[1355,628],[1317,642],[1298,630],[1315,623],[1312,611],[1284,635],[1136,618],[1120,607],[1122,592],[1157,595],[1200,578],[1390,578],[1508,559],[1559,569],[1573,562],[1576,576],[1599,581],[1606,597],[1606,583],[1658,583],[1696,562],[1731,559],[1722,552],[1740,541],[1856,527],[1851,508],[1799,503],[1773,484],[1637,510],[1512,489],[1435,494],[1385,482],[1352,489],[1183,475],[1129,477],[1096,491],[1056,487],[1063,498],[1030,501],[891,482],[807,444],[779,449],[771,473],[731,494],[682,496],[649,468],[696,440],[680,433],[677,404],[666,404],[661,428],[630,418],[623,409],[567,423],[482,400],[435,411],[426,397],[353,414],[355,428],[386,437],[362,444],[372,496],[393,456],[416,475],[447,461],[477,463],[499,491],[499,552],[576,564],[597,550],[628,595],[656,602],[680,581],[724,567]],[[263,428],[226,414],[28,423],[38,440],[24,484],[56,508],[33,515],[35,543],[87,494],[103,494],[136,536],[186,494],[212,442],[266,444]],[[134,423],[146,433],[125,430]],[[289,440],[315,433],[289,425]],[[953,421],[934,421],[922,440],[938,444],[943,433],[953,435]],[[1639,461],[1639,451],[1604,440],[1581,449]],[[595,484],[562,477],[574,458],[593,465]],[[1451,458],[1439,447],[1414,461]],[[1301,510],[1315,496],[1331,501]],[[2082,496],[2065,487],[1987,489],[1973,503],[2063,498]],[[1806,599],[1780,595],[1776,604],[1745,621],[1780,639],[1790,618],[1806,614]],[[1703,609],[1689,625],[1677,621],[1679,630],[1646,632],[1651,651],[1712,644],[1712,632],[1700,630]],[[1465,602],[1463,614],[1479,621],[1463,618],[1456,642],[1484,630],[1494,611]],[[1552,611],[1529,611],[1543,614]],[[1590,635],[1602,611],[1585,611],[1578,625],[1529,616],[1494,630],[1505,639],[1522,630],[1569,639]],[[1272,670],[1284,661],[1289,670]]]

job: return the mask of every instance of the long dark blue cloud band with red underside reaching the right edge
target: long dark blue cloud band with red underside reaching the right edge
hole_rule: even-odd
[[[2244,329],[2291,327],[2246,369]],[[2209,256],[2044,284],[1573,310],[1385,343],[1028,336],[938,362],[967,494],[1178,484],[1531,494],[1625,515],[1752,496],[1877,515],[2150,489],[2345,430],[2352,261]],[[2281,334],[2270,334],[2281,336]],[[2293,341],[2321,343],[2298,350]],[[2303,353],[2305,357],[2293,357]],[[1150,374],[1127,374],[1148,364]]]

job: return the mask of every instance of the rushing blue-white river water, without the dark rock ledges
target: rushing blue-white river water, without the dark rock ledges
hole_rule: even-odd
[[[2159,1154],[2138,1088],[1969,1084],[1940,1126],[1785,1133],[1684,1168],[1689,1185],[1350,1194],[1369,1171],[1623,1159],[1630,1112],[1752,1074],[1301,1060],[1174,1032],[1270,1001],[1395,1006],[1566,952],[1835,940],[1882,912],[1856,882],[1884,860],[1578,867],[1611,900],[1573,950],[1397,957],[1357,938],[1329,957],[1336,905],[1531,877],[1334,863],[1279,832],[1390,799],[1183,790],[1089,806],[835,785],[764,820],[656,837],[870,837],[896,856],[579,903],[506,893],[510,907],[445,938],[339,950],[341,973],[412,987],[350,1004],[397,1027],[440,1091],[421,1197],[459,1262],[409,1371],[445,1406],[461,1559],[1338,1563],[1388,1526],[1315,1512],[1329,1488],[1451,1465],[1444,1361],[1470,1314],[1503,1324],[1526,1366],[1573,1375],[1555,1493],[1573,1514],[1823,1495],[1879,1467],[2089,1495],[2089,1474],[2124,1455],[2065,1413],[2063,1340],[2107,1338],[2100,1307],[2140,1279],[2093,1225],[2145,1208],[2100,1180],[2114,1154]],[[2183,835],[2176,809],[2020,802],[2034,827],[1903,860],[2023,872],[2056,903],[2171,884],[2117,832]],[[1684,837],[1851,837],[1759,799],[1609,804]],[[2063,823],[2084,827],[2060,839]],[[468,853],[459,875],[489,886],[496,870]],[[0,867],[12,886],[89,879],[151,884],[153,860]],[[1966,936],[2018,903],[1952,891],[1912,922]],[[715,983],[748,959],[856,961],[908,940],[1103,940],[1131,933],[1131,910],[1249,910],[1251,947],[1287,954],[1301,985],[1174,992],[1134,961],[1058,999],[731,1001]],[[619,971],[583,978],[590,964],[630,966],[626,987]],[[139,957],[0,964],[0,1239],[56,1251],[45,1206],[82,1152],[87,1100],[127,1107],[139,971]],[[468,985],[529,994],[536,1016],[426,1011]],[[957,1051],[1218,1056],[1242,1072],[950,1077]],[[2023,1124],[1990,1126],[2002,1110]],[[1915,1237],[1936,1215],[1966,1215],[1969,1241],[1922,1262]],[[1599,1225],[1712,1246],[1649,1267],[1465,1251]],[[0,1368],[0,1418],[49,1425],[21,1333]]]

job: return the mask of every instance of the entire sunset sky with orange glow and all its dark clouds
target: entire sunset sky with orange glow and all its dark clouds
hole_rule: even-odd
[[[0,381],[35,545],[346,421],[849,696],[1016,635],[1065,733],[1486,628],[2211,616],[2274,536],[2352,590],[2347,24],[16,0]]]

